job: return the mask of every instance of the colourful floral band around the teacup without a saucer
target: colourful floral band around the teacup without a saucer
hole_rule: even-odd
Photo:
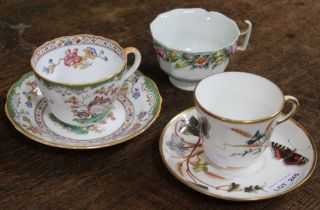
[[[166,62],[173,63],[176,69],[183,69],[185,67],[191,67],[193,69],[214,69],[221,65],[230,53],[232,53],[233,46],[219,50],[214,53],[182,53],[170,50],[161,46],[158,43],[154,43],[154,49],[159,59]]]

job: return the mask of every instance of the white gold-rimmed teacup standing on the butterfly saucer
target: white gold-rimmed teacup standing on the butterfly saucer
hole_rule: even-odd
[[[203,79],[194,91],[203,148],[214,164],[240,168],[255,163],[269,146],[275,126],[298,106],[271,81],[244,72],[223,72]],[[286,103],[292,104],[281,114]]]

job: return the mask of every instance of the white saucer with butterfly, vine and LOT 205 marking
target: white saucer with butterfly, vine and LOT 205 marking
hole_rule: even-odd
[[[190,108],[174,117],[160,137],[160,153],[168,170],[203,194],[235,201],[262,200],[301,186],[315,170],[314,141],[296,121],[278,125],[259,161],[247,168],[219,168],[205,157],[197,133],[197,112]],[[191,126],[190,126],[191,125]]]

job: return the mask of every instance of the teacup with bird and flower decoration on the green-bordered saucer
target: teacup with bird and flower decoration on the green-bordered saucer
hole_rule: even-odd
[[[135,61],[127,68],[127,55]],[[110,39],[88,34],[65,36],[38,47],[31,66],[50,111],[62,122],[89,126],[103,119],[119,90],[137,70],[141,55]]]

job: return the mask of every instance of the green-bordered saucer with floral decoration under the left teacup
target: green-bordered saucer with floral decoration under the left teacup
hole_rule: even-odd
[[[37,142],[66,149],[95,149],[130,140],[156,120],[162,98],[156,84],[137,71],[121,87],[107,117],[88,127],[57,119],[48,108],[32,72],[9,90],[6,115],[14,127]]]

